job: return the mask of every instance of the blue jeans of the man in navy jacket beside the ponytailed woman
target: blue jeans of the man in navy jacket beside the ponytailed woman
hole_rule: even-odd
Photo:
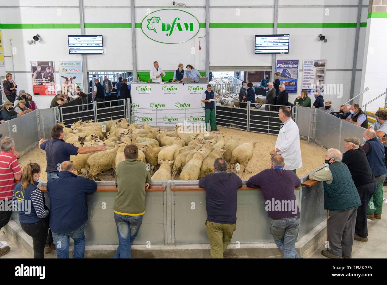
[[[70,237],[74,240],[74,254],[73,258],[83,258],[85,254],[85,224],[78,230],[70,231],[68,233],[54,233],[52,237],[54,244],[57,247],[57,258],[68,258],[68,248],[70,247]]]

